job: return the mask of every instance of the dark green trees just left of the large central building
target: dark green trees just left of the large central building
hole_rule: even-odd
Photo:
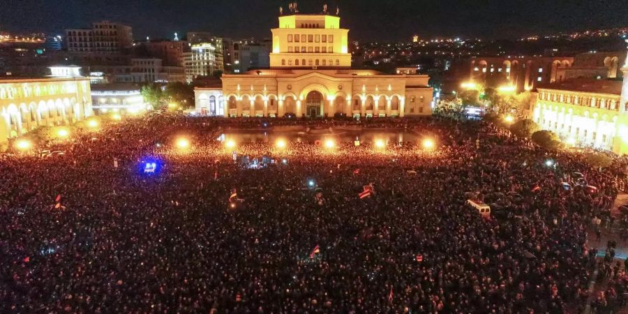
[[[165,109],[170,103],[177,107],[188,108],[194,106],[194,87],[190,84],[174,82],[165,86],[147,84],[142,87],[144,101],[153,105],[155,109]]]

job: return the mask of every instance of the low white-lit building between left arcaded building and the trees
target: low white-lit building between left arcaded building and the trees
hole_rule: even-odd
[[[134,113],[147,108],[140,87],[134,84],[96,84],[91,87],[91,103],[96,114]]]

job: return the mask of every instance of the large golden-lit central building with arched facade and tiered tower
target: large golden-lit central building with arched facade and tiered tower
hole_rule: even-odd
[[[279,17],[269,67],[195,89],[196,109],[225,117],[404,117],[431,114],[428,75],[351,68],[348,29],[327,12]],[[283,12],[283,10],[281,10]]]

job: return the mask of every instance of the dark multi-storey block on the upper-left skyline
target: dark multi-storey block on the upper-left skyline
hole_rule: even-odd
[[[66,29],[69,52],[119,53],[133,45],[133,29],[124,24],[94,22],[91,29]]]

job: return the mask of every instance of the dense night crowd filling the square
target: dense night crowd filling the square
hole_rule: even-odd
[[[3,156],[0,313],[565,313],[590,297],[601,245],[587,232],[618,194],[619,162],[599,171],[438,118],[307,123],[397,128],[429,150],[216,140],[304,124],[136,118],[52,144],[61,155]],[[248,169],[233,151],[276,163]],[[627,278],[609,264],[621,304]]]

